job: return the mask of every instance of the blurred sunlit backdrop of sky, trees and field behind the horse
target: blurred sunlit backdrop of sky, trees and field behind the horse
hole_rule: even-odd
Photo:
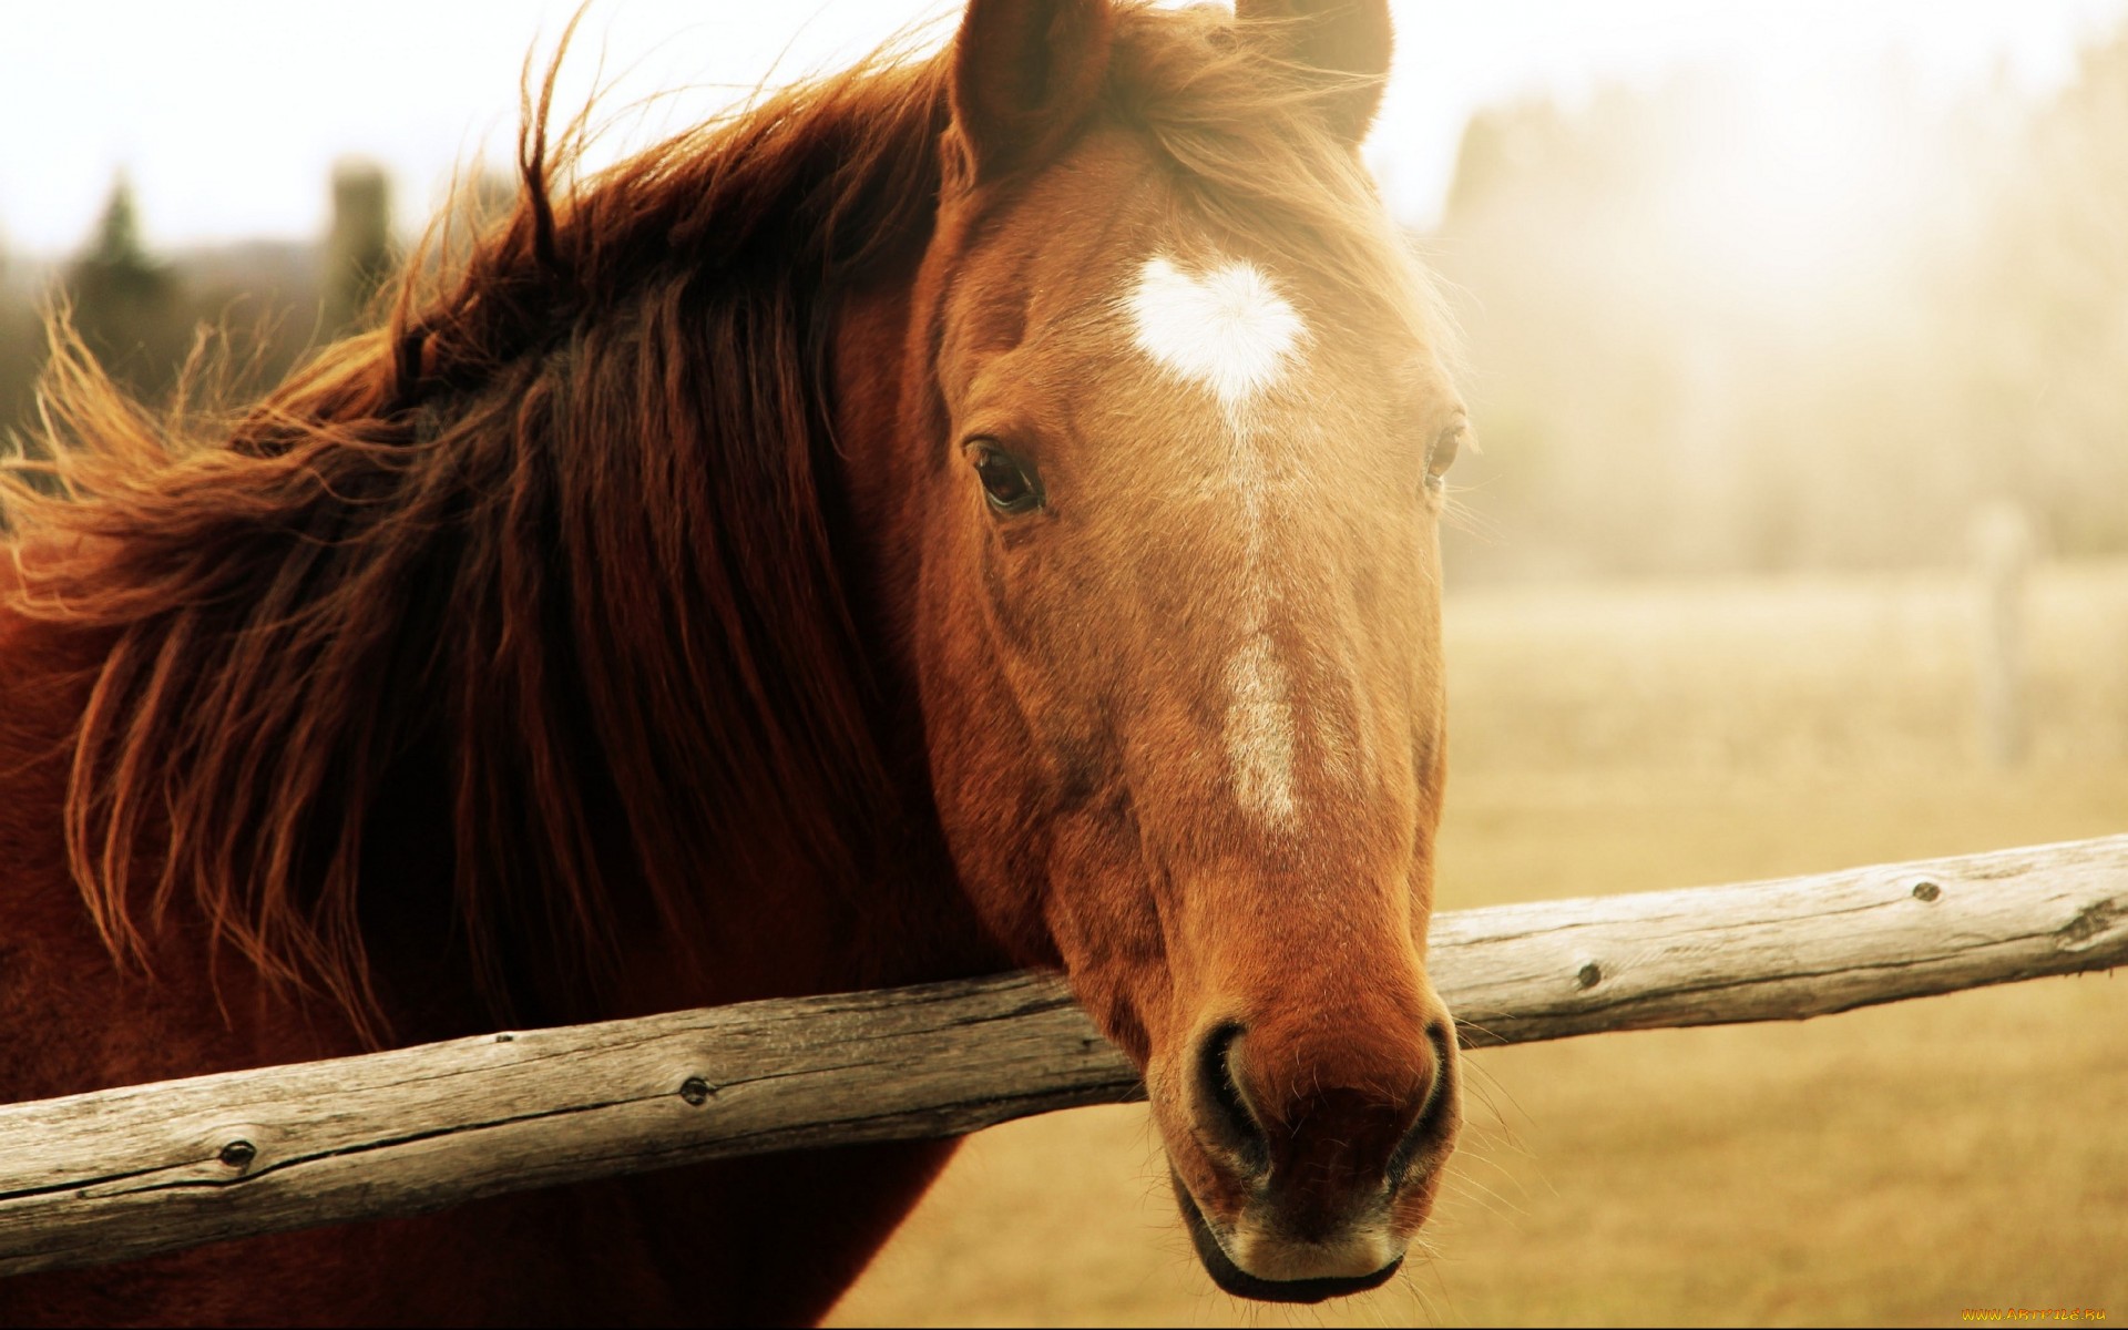
[[[262,383],[353,328],[453,174],[502,204],[566,13],[11,6],[0,423],[62,294],[147,398],[202,323]],[[560,104],[609,87],[615,160],[941,13],[602,2]],[[1396,15],[1368,157],[1481,440],[1439,904],[2128,830],[2128,0]],[[977,1136],[836,1319],[2128,1315],[2113,977],[1470,1062],[1432,1251],[1379,1294],[1211,1292],[1126,1107]]]

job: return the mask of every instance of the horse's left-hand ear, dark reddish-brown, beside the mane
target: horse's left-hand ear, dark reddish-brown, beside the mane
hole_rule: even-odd
[[[1109,70],[1109,0],[968,0],[953,40],[953,126],[972,179],[1043,162]]]

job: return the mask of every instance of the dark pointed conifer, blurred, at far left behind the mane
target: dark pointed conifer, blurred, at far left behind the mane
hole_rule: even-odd
[[[177,277],[140,243],[132,185],[121,174],[64,287],[74,330],[113,379],[140,400],[160,400],[177,381],[189,345]]]

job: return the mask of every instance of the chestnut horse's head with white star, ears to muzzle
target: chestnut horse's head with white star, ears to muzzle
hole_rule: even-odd
[[[896,481],[855,487],[962,890],[1145,1068],[1198,1253],[1270,1300],[1385,1281],[1460,1121],[1426,924],[1464,413],[1358,160],[1387,36],[1383,0],[975,0],[913,294],[843,334],[898,330],[851,385]]]

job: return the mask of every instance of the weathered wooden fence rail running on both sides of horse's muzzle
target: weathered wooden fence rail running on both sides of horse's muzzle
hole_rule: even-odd
[[[2128,962],[2128,836],[1447,911],[1468,1047],[1802,1019]],[[1136,1098],[1053,979],[747,1002],[0,1109],[0,1275]]]

